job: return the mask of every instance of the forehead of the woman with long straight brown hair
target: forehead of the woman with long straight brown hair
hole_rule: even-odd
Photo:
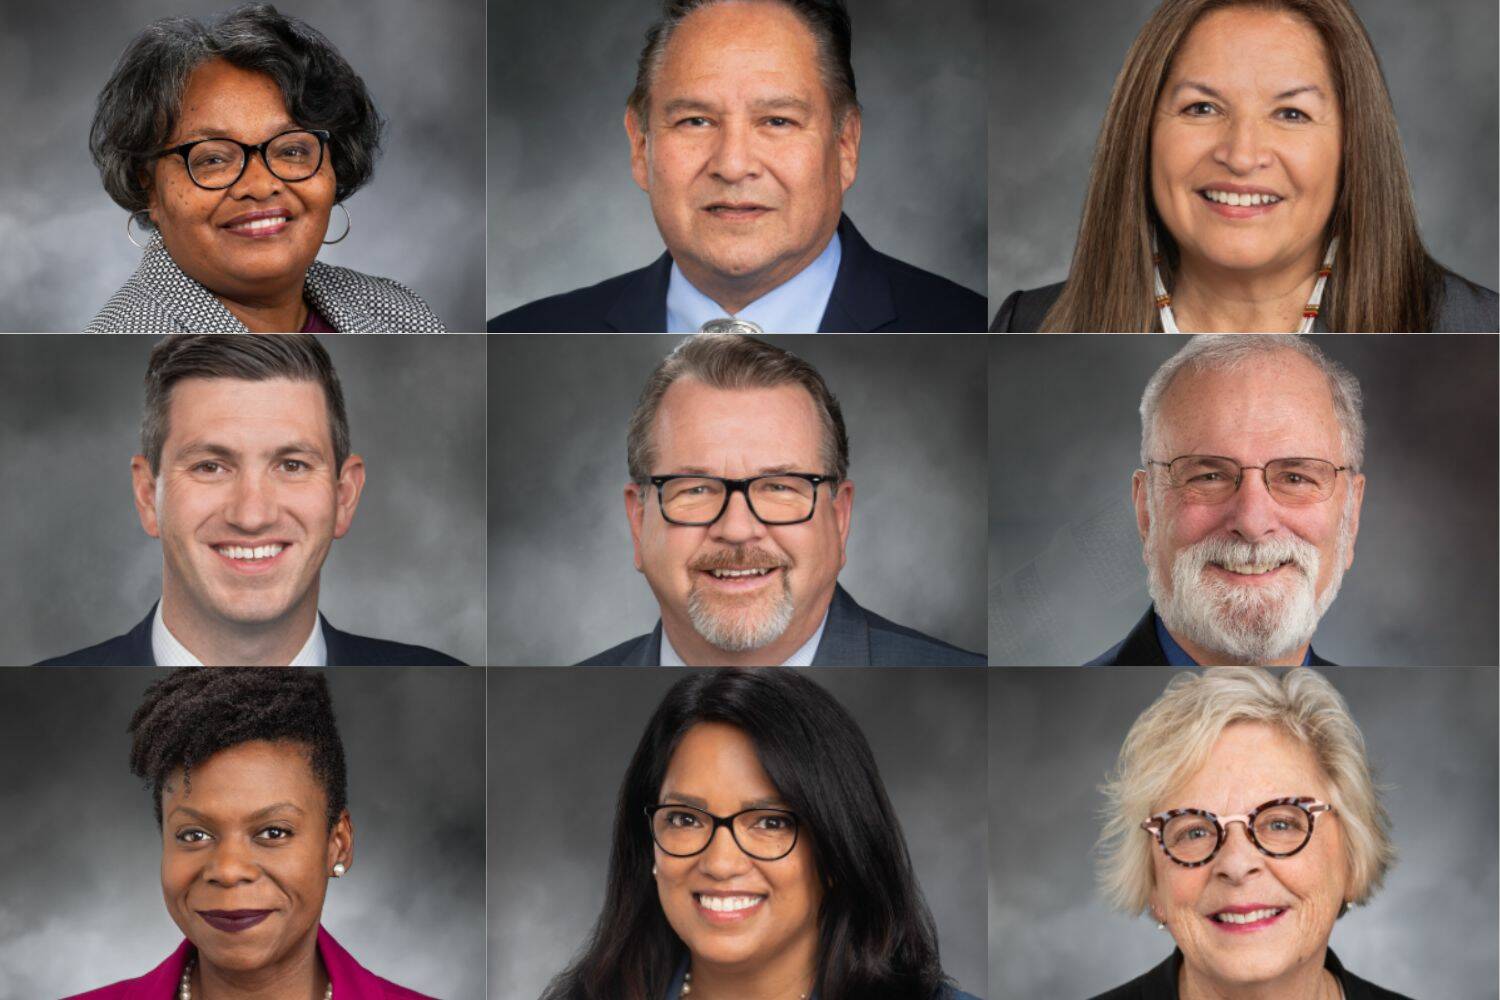
[[[1233,6],[1198,18],[1178,48],[1168,85],[1184,79],[1215,90],[1281,93],[1317,84],[1334,96],[1323,36],[1290,10]]]

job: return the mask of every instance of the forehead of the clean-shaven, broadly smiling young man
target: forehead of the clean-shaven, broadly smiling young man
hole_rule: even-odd
[[[327,399],[318,382],[272,378],[184,378],[172,385],[164,448],[213,438],[218,444],[332,447]]]

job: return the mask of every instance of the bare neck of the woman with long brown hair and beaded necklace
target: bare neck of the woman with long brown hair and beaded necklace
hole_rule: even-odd
[[[1317,283],[1318,259],[1272,274],[1182,259],[1172,289],[1172,315],[1184,333],[1293,333]]]

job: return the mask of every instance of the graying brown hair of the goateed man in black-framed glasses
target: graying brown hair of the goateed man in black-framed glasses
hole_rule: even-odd
[[[700,333],[682,340],[672,354],[662,358],[640,390],[640,402],[630,415],[630,433],[626,436],[630,478],[634,483],[645,486],[651,481],[651,466],[656,465],[652,424],[662,397],[680,378],[696,378],[711,388],[801,385],[813,397],[824,423],[824,468],[819,472],[838,481],[849,475],[849,432],[844,430],[843,411],[818,369],[765,340],[732,333]]]

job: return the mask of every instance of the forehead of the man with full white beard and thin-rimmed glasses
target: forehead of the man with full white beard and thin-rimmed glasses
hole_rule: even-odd
[[[1222,454],[1242,463],[1329,459],[1342,463],[1328,378],[1294,351],[1246,358],[1232,369],[1184,369],[1156,415],[1158,460]]]

